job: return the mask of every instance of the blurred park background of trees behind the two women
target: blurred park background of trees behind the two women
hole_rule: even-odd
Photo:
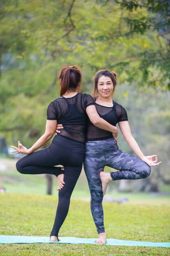
[[[16,157],[22,155],[13,155],[9,146],[20,140],[29,148],[44,133],[63,64],[81,67],[84,93],[91,93],[97,70],[115,70],[114,100],[126,108],[144,155],[157,154],[162,161],[145,180],[109,184],[105,200],[169,204],[170,2],[165,0],[0,0],[0,191],[57,194],[55,177],[18,173]],[[120,132],[118,145],[132,153]],[[84,170],[73,197],[90,200]]]

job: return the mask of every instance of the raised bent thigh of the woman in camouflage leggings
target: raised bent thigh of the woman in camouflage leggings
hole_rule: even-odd
[[[106,160],[107,166],[116,170],[128,170],[139,173],[144,168],[148,168],[148,164],[141,159],[119,149],[114,152],[108,152],[106,154]]]

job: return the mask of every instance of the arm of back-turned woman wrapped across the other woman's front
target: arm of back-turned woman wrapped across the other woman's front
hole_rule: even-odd
[[[97,110],[95,108],[95,105],[88,106],[86,108],[86,113],[91,120],[92,124],[97,126],[100,129],[112,132],[114,139],[117,143],[117,127],[109,124],[107,121],[105,121],[103,118],[99,117],[99,114],[97,113]]]

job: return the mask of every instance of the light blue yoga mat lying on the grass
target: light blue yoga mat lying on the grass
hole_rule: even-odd
[[[90,244],[96,245],[96,238],[77,238],[77,237],[62,237],[59,242],[51,242],[46,236],[0,236],[1,244],[32,244],[32,243],[57,243],[57,244]],[[152,243],[141,241],[118,240],[108,238],[106,245],[127,245],[127,246],[146,246],[146,247],[170,247],[170,243]]]

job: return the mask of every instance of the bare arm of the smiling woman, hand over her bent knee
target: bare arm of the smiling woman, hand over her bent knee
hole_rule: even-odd
[[[121,130],[121,133],[126,139],[128,145],[142,161],[146,162],[146,164],[148,164],[149,166],[156,166],[161,164],[161,162],[157,162],[157,155],[144,156],[137,142],[132,136],[128,121],[122,121],[122,122],[119,122],[118,124]],[[152,160],[153,158],[155,158],[155,161]]]

